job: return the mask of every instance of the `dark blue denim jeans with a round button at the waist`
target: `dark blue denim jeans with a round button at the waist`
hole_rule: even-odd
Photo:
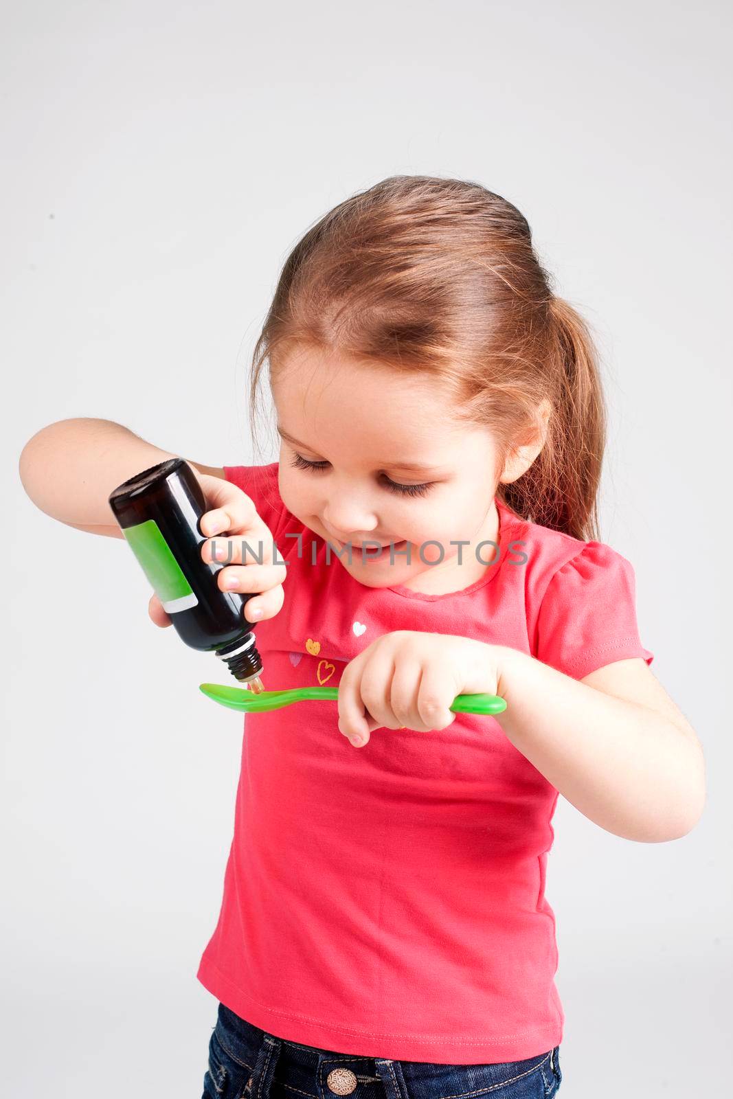
[[[558,1050],[490,1065],[355,1057],[276,1037],[220,1003],[201,1099],[551,1099]]]

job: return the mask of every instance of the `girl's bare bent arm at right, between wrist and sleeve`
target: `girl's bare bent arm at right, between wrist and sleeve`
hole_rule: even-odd
[[[496,720],[584,817],[641,843],[676,840],[697,824],[702,746],[643,659],[582,680],[503,646],[498,665],[507,709]]]

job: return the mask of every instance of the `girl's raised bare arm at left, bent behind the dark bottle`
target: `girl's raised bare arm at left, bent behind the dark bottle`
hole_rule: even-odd
[[[146,443],[111,420],[58,420],[23,447],[19,473],[41,511],[68,526],[122,537],[109,506],[110,492],[134,474],[177,454]],[[223,469],[197,466],[197,474],[223,477]]]

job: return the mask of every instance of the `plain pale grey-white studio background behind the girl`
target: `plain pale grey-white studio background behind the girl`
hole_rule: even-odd
[[[326,210],[398,173],[510,199],[595,326],[611,410],[601,537],[634,565],[653,669],[708,761],[703,819],[671,843],[618,839],[560,799],[560,1094],[722,1094],[722,2],[26,0],[2,21],[3,1094],[198,1099],[216,1002],[196,969],[242,736],[198,691],[213,657],[147,619],[125,544],[35,508],[20,452],[85,415],[209,465],[274,460],[251,451],[245,398],[280,266]]]

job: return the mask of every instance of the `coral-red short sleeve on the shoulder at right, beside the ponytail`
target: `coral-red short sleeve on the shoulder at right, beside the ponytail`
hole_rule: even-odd
[[[587,542],[554,574],[537,615],[535,656],[574,679],[634,656],[652,664],[654,654],[638,635],[634,569],[625,557]]]

